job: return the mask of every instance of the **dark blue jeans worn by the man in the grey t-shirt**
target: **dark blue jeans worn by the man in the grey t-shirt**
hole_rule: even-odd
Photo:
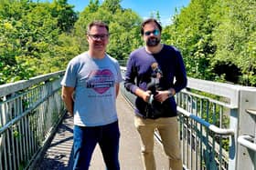
[[[119,126],[118,122],[101,126],[74,125],[74,165],[73,170],[89,169],[91,155],[97,144],[107,169],[119,170]]]

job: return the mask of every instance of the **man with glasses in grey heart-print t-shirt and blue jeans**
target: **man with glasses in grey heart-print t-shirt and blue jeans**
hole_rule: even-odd
[[[89,169],[97,144],[107,169],[119,170],[120,131],[116,97],[122,81],[120,65],[106,54],[109,27],[94,21],[87,28],[89,50],[69,61],[61,81],[62,98],[74,115],[73,169]]]

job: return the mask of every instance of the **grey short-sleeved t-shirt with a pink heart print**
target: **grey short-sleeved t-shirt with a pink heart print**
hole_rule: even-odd
[[[115,84],[120,66],[110,55],[93,59],[87,52],[70,60],[61,85],[75,87],[74,125],[108,125],[117,120]]]

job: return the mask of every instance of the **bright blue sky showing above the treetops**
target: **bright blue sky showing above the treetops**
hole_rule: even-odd
[[[103,0],[100,0],[102,2]],[[70,5],[75,5],[74,10],[81,12],[90,0],[68,0]],[[176,9],[187,6],[190,0],[122,0],[123,8],[131,8],[142,18],[149,17],[152,13],[159,11],[162,25],[171,23],[171,16],[175,15]]]

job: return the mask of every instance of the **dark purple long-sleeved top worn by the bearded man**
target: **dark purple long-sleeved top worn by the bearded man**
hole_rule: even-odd
[[[171,45],[164,45],[163,49],[157,54],[149,54],[145,47],[133,51],[126,65],[124,86],[134,94],[136,88],[147,90],[152,82],[154,70],[152,64],[157,63],[161,70],[162,77],[157,85],[158,90],[167,90],[170,87],[178,93],[187,85],[187,74],[180,52]],[[174,81],[175,80],[175,81]],[[145,106],[147,103],[140,97],[135,101],[135,113],[145,116]],[[161,117],[176,116],[176,101],[174,97],[168,98],[163,102],[165,113]]]

